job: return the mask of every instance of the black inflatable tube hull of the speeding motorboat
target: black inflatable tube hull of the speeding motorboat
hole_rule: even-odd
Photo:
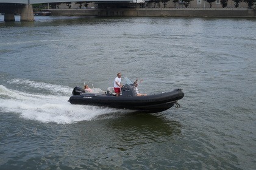
[[[181,89],[143,97],[115,97],[102,94],[80,94],[69,98],[71,104],[105,106],[140,112],[162,112],[174,106],[184,96]]]

